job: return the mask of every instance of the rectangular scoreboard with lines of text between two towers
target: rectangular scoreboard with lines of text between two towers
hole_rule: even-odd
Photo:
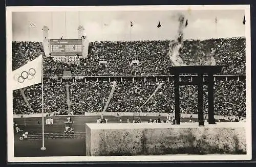
[[[81,39],[51,39],[51,56],[82,55]]]

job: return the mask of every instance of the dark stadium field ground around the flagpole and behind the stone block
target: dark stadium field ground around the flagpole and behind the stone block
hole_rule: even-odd
[[[45,133],[61,133],[65,129],[64,122],[67,121],[68,116],[53,117],[53,125],[45,125]],[[71,116],[74,122],[74,131],[85,133],[86,123],[96,123],[96,120],[100,116]],[[104,116],[108,118],[109,123],[119,123],[119,119],[122,118],[123,123],[127,122],[129,118],[130,122],[133,120],[133,116]],[[159,118],[158,116],[140,116],[141,121],[148,121],[150,118],[154,120]],[[165,120],[166,117],[160,117]],[[46,119],[46,117],[45,117]],[[182,118],[181,122],[188,122],[190,118]],[[193,121],[197,121],[197,118],[191,118]],[[18,124],[23,132],[14,134],[14,156],[15,157],[39,157],[39,156],[84,156],[86,155],[86,141],[84,138],[71,139],[71,138],[56,138],[56,139],[45,139],[45,151],[41,151],[42,140],[19,140],[19,137],[25,131],[29,134],[42,133],[42,118],[31,117],[31,118],[14,118],[14,122]],[[26,123],[25,123],[26,122]],[[26,124],[26,126],[25,126]],[[127,124],[128,125],[128,124]]]

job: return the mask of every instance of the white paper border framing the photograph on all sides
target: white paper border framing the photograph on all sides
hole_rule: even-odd
[[[246,34],[246,155],[161,155],[161,156],[65,156],[65,157],[14,157],[13,106],[12,106],[12,12],[33,11],[158,11],[158,10],[245,10]],[[194,160],[250,160],[251,137],[251,39],[250,5],[184,5],[184,6],[62,6],[62,7],[6,7],[7,43],[7,160],[8,162],[75,162],[75,161],[194,161]],[[38,148],[39,149],[39,148]]]

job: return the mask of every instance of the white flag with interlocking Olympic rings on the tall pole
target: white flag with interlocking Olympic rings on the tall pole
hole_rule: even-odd
[[[12,90],[41,83],[42,56],[28,62],[22,67],[12,71]]]

